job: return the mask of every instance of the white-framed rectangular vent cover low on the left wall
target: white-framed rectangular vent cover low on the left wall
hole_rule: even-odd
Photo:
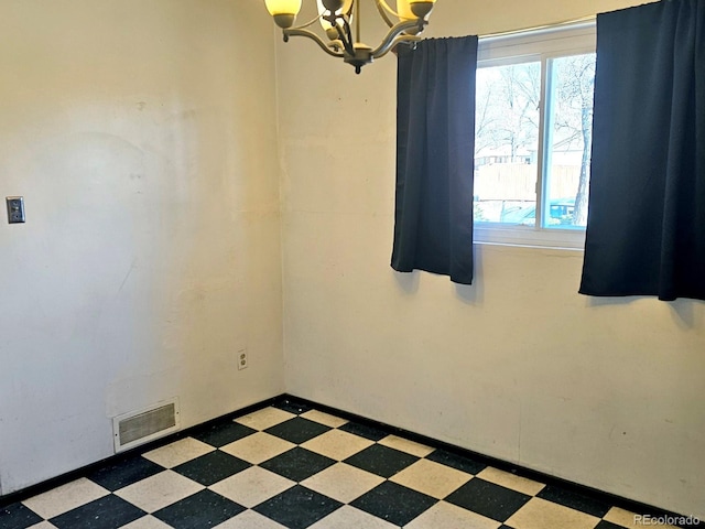
[[[124,413],[112,419],[115,451],[122,452],[177,430],[177,399],[159,402],[145,410]]]

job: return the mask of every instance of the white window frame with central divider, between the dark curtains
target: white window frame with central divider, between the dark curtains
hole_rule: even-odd
[[[546,136],[544,127],[547,105],[549,61],[566,55],[595,53],[597,33],[595,20],[547,26],[516,33],[480,37],[477,67],[502,66],[524,62],[541,62],[541,108],[539,114],[539,166],[536,174],[536,226],[512,226],[505,223],[475,222],[475,241],[512,246],[583,249],[584,227],[542,228],[541,216],[546,197]]]

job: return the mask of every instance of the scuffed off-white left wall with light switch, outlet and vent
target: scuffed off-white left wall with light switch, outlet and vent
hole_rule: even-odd
[[[0,494],[111,455],[117,414],[281,393],[263,7],[3,0],[0,65]]]

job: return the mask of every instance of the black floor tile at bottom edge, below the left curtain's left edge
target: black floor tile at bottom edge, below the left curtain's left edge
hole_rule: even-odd
[[[384,482],[350,505],[391,523],[405,526],[436,501],[437,499],[411,488]]]

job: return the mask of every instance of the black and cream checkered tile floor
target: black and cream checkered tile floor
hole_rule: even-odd
[[[633,514],[600,500],[283,401],[209,423],[171,444],[0,508],[0,529],[118,527],[612,529],[637,525]]]

